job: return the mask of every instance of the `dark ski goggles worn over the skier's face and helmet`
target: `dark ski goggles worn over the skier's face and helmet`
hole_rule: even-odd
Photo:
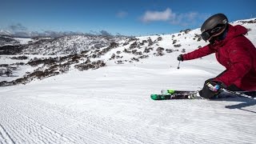
[[[210,40],[210,38],[215,37],[222,33],[222,30],[225,28],[225,25],[215,26],[211,30],[206,30],[201,34],[201,38],[205,41]]]

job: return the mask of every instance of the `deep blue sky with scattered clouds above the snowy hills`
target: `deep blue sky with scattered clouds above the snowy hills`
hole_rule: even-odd
[[[170,34],[198,28],[210,15],[256,18],[254,0],[0,0],[0,30]]]

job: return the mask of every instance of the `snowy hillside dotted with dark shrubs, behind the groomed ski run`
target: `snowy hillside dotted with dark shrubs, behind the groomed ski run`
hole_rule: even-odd
[[[232,24],[246,26],[250,30],[246,37],[256,43],[254,19]],[[1,56],[0,70],[2,73],[9,71],[11,74],[2,74],[8,77],[1,77],[0,86],[26,84],[34,79],[48,78],[74,69],[89,70],[128,63],[138,65],[144,62],[142,59],[149,59],[145,62],[154,62],[155,60],[152,60],[160,59],[158,57],[166,58],[170,66],[175,67],[178,54],[190,52],[207,44],[199,34],[199,29],[187,29],[177,34],[138,38],[86,35],[15,38],[15,41],[23,45],[2,47],[2,53],[5,55]]]

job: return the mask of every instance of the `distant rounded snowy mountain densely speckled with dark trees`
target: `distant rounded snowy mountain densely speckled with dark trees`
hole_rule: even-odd
[[[23,46],[22,54],[80,54],[84,50],[94,50],[110,46],[125,37],[72,35],[59,38],[40,39]]]

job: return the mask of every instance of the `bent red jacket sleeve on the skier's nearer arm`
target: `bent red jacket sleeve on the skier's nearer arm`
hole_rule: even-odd
[[[226,86],[230,86],[234,82],[241,80],[252,67],[250,53],[246,51],[242,43],[236,43],[232,46],[229,52],[229,58],[230,68],[220,77],[214,78],[215,81],[223,82]]]

